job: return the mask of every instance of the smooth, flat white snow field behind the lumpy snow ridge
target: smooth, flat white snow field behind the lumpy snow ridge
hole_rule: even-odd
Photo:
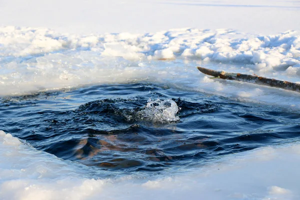
[[[300,30],[299,10],[299,0],[1,0],[0,25],[85,34],[182,27],[274,34]]]

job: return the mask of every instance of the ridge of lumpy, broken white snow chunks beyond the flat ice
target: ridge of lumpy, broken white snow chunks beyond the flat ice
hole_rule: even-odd
[[[80,36],[60,34],[50,29],[7,26],[0,28],[0,44],[4,63],[13,57],[26,60],[28,56],[39,58],[49,53],[67,55],[72,52],[74,57],[69,59],[75,58],[73,63],[80,64],[87,61],[76,54],[81,51],[129,60],[193,58],[253,64],[258,70],[285,70],[300,63],[300,34],[296,31],[251,35],[231,29],[182,28],[145,34],[124,32]]]

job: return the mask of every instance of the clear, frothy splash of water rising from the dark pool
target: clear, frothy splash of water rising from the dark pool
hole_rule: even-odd
[[[137,112],[137,117],[139,120],[169,123],[179,120],[176,115],[178,110],[176,102],[172,99],[150,99],[144,108]]]

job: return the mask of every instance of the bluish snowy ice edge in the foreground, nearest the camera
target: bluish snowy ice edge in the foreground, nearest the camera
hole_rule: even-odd
[[[300,197],[300,144],[261,147],[191,168],[103,178],[0,130],[1,199],[285,199]],[[98,178],[96,178],[98,177]]]

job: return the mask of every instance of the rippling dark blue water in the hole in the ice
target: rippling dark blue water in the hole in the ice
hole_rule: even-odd
[[[170,102],[179,107],[173,118],[151,118]],[[0,116],[0,129],[39,150],[126,173],[191,166],[300,138],[299,112],[147,83],[1,97]]]

